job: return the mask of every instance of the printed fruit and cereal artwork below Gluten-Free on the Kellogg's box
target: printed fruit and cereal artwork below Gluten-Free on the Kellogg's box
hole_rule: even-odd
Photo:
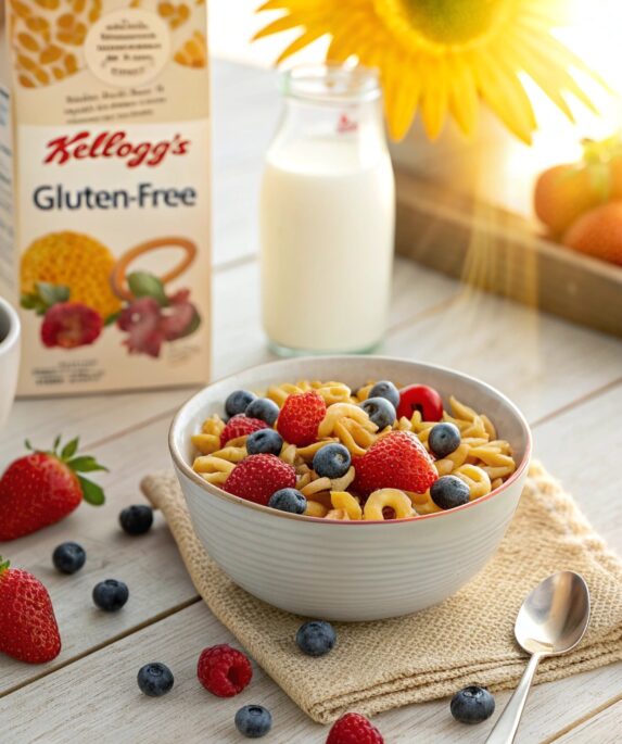
[[[183,256],[164,276],[127,274],[139,256],[172,247],[180,248]],[[172,237],[140,243],[115,263],[109,249],[89,236],[48,235],[24,253],[22,307],[42,316],[40,339],[47,348],[92,344],[114,325],[126,335],[128,353],[157,358],[163,344],[190,336],[201,325],[190,290],[166,291],[195,255],[192,241]]]

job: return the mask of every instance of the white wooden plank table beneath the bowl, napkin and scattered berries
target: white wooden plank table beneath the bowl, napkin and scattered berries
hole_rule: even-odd
[[[277,115],[265,72],[215,65],[214,377],[270,357],[258,319],[255,199],[262,153]],[[465,289],[398,260],[391,321],[381,350],[450,365],[498,387],[524,411],[535,454],[574,493],[596,528],[622,547],[622,341]],[[178,557],[161,515],[149,535],[132,539],[117,514],[141,501],[141,477],[168,465],[166,431],[189,390],[21,401],[0,434],[1,464],[26,437],[51,442],[80,434],[111,472],[107,504],[82,505],[65,521],[2,545],[13,564],[49,588],[63,651],[43,666],[0,659],[0,742],[241,742],[233,715],[246,703],[275,717],[266,742],[322,744],[327,730],[307,719],[263,674],[239,697],[221,701],[195,678],[200,651],[234,642],[215,620]],[[64,540],[88,552],[86,567],[63,577],[51,553]],[[105,578],[127,582],[130,600],[116,615],[91,602]],[[508,618],[512,622],[513,618]],[[161,699],[139,692],[136,674],[162,660],[176,684]],[[508,694],[497,695],[497,710]],[[496,718],[496,716],[495,716]],[[493,720],[495,720],[493,718]],[[493,721],[464,727],[447,701],[394,710],[376,723],[388,744],[482,742]],[[534,689],[518,741],[613,744],[622,741],[622,663]]]

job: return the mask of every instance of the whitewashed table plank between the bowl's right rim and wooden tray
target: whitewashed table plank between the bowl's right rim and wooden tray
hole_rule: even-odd
[[[389,335],[381,352],[474,375],[532,421],[622,377],[618,339],[469,288],[442,314]]]

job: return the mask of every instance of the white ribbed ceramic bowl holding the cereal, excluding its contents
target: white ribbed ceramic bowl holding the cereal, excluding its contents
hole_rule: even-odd
[[[206,483],[193,472],[191,434],[223,413],[239,388],[262,391],[299,379],[369,379],[433,386],[486,413],[507,439],[517,471],[488,496],[449,512],[384,522],[332,521],[270,509]],[[454,594],[486,563],[519,503],[531,433],[502,393],[460,373],[405,360],[365,356],[294,358],[211,384],[175,417],[169,446],[196,534],[223,570],[281,609],[327,620],[376,620],[414,613]]]

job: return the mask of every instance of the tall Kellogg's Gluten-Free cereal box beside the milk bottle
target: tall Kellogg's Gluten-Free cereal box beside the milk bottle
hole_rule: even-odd
[[[22,394],[202,382],[204,0],[0,0],[0,294]]]

